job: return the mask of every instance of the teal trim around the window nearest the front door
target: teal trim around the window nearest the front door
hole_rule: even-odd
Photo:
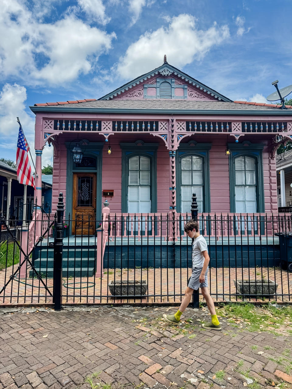
[[[134,143],[120,143],[122,149],[122,187],[121,187],[121,212],[128,212],[128,180],[129,158],[145,156],[151,162],[151,212],[157,212],[157,149],[158,143],[144,143],[137,140]]]

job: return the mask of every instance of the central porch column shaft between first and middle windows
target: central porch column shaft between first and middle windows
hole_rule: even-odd
[[[178,240],[176,222],[176,151],[169,151],[169,240]]]

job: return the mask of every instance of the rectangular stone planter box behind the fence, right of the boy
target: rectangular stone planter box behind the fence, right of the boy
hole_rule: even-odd
[[[237,293],[242,296],[273,296],[276,294],[278,284],[273,280],[233,280]]]

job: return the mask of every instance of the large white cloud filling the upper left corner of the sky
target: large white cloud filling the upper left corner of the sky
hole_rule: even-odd
[[[85,1],[85,0],[82,0]],[[98,1],[98,0],[96,0]],[[26,84],[64,84],[88,73],[116,36],[77,19],[74,12],[55,23],[36,20],[20,0],[2,0],[0,77]]]

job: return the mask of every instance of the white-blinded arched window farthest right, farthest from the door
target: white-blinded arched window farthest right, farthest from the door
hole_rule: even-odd
[[[240,156],[235,163],[235,212],[257,212],[257,182],[255,159]]]

